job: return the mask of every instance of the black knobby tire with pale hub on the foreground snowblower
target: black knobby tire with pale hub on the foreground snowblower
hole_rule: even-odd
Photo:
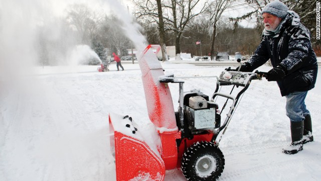
[[[181,169],[189,181],[213,181],[223,172],[225,159],[212,142],[194,143],[183,154]]]

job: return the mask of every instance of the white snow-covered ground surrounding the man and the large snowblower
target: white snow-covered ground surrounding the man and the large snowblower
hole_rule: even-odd
[[[154,132],[139,66],[123,66],[125,71],[116,71],[111,64],[109,72],[98,72],[98,66],[45,66],[30,76],[0,81],[0,180],[116,180],[108,113],[130,115],[146,138]],[[226,68],[170,62],[162,66],[176,76],[219,75]],[[216,80],[185,82],[185,91],[200,88],[211,96]],[[177,110],[178,85],[170,88]],[[285,99],[275,82],[252,81],[220,142],[225,168],[218,180],[320,180],[320,100],[319,73],[306,98],[315,141],[286,155],[281,152],[290,143]],[[185,177],[180,170],[168,170],[165,180]]]

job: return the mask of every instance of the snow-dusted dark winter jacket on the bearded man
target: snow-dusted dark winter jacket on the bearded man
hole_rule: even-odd
[[[281,95],[296,91],[309,91],[314,87],[317,61],[311,47],[310,33],[298,15],[288,11],[274,35],[263,32],[262,41],[249,61],[252,70],[271,59],[272,66],[280,65],[286,71],[285,78],[277,81]]]

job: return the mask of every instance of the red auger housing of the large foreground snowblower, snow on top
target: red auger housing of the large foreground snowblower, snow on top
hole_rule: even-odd
[[[117,180],[163,180],[165,164],[158,151],[143,140],[128,116],[109,114],[111,153],[115,157]]]

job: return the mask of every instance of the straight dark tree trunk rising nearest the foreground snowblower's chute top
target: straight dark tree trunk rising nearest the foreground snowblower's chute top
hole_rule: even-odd
[[[159,30],[159,42],[161,43],[162,48],[162,59],[164,61],[168,61],[167,55],[166,55],[166,46],[164,43],[164,37],[165,37],[165,30],[164,30],[164,20],[163,20],[163,11],[162,11],[162,1],[156,0],[157,2],[157,10],[158,10],[158,30]]]

